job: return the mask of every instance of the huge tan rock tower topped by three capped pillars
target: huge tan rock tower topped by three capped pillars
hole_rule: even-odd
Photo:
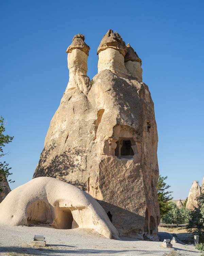
[[[158,137],[141,59],[109,30],[98,47],[98,74],[90,81],[89,49],[82,34],[67,48],[69,83],[34,177],[56,177],[87,191],[120,236],[157,239]]]

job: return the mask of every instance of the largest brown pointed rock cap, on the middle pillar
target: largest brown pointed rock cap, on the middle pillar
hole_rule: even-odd
[[[117,32],[114,33],[111,29],[109,29],[108,32],[103,36],[103,39],[101,40],[98,47],[97,54],[107,48],[113,48],[118,50],[119,53],[123,55],[123,57],[127,52],[127,47],[121,36]]]

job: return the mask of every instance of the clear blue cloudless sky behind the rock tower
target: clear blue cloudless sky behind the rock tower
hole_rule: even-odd
[[[116,30],[142,59],[158,126],[160,174],[175,199],[204,176],[204,1],[0,1],[0,115],[15,188],[32,179],[50,120],[69,79],[67,47],[77,33],[97,47]]]

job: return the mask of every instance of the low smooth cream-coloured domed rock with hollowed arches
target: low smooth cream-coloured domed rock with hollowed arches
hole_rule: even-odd
[[[116,228],[94,198],[51,177],[38,177],[12,190],[0,203],[0,224],[89,228],[107,238],[118,238]]]

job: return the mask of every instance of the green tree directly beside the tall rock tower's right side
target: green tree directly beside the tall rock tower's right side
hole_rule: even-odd
[[[171,193],[172,191],[168,191],[167,189],[170,188],[170,185],[167,185],[165,180],[167,176],[163,177],[159,175],[158,183],[157,183],[157,196],[159,201],[159,209],[160,215],[163,219],[163,216],[167,214],[167,212],[171,209],[170,200],[172,200]]]

